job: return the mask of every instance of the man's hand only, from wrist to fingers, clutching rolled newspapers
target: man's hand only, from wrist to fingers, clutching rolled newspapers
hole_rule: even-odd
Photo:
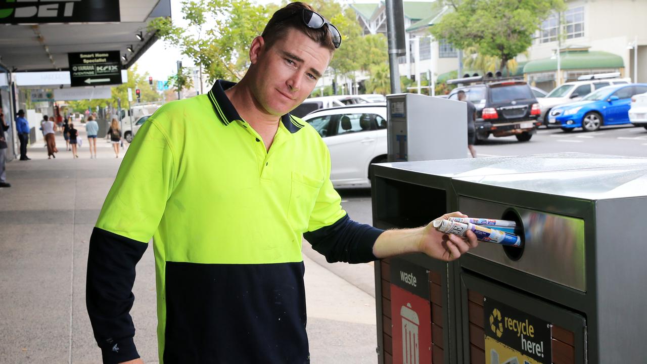
[[[468,216],[461,214],[461,212],[452,212],[450,214],[444,214],[437,220],[447,220],[450,217],[466,218]],[[429,223],[424,227],[418,246],[422,253],[432,258],[450,262],[478,245],[479,242],[476,240],[476,235],[472,231],[467,231],[466,238],[461,238],[454,234],[441,233],[434,229],[432,223]]]

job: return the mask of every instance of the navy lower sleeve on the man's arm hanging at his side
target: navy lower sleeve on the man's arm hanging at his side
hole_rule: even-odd
[[[130,316],[135,265],[148,244],[95,227],[90,238],[85,305],[105,364],[139,358]]]

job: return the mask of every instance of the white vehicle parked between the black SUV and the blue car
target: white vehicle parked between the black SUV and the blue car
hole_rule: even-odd
[[[542,109],[540,120],[543,121],[544,125],[548,125],[549,111],[551,111],[555,106],[582,100],[583,97],[589,95],[592,91],[601,89],[602,87],[609,85],[626,85],[630,83],[630,78],[597,78],[594,80],[565,82],[564,84],[555,87],[553,91],[546,95],[546,97],[537,99],[539,106]]]

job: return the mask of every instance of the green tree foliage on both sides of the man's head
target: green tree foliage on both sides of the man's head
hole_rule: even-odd
[[[252,40],[263,32],[272,14],[286,4],[186,0],[182,1],[182,14],[188,25],[158,18],[151,22],[150,28],[157,30],[162,40],[179,47],[195,65],[203,65],[210,82],[217,78],[237,81],[247,71]],[[368,71],[372,65],[387,60],[384,35],[364,36],[351,8],[329,0],[313,0],[309,4],[342,34],[342,46],[334,52],[330,64],[334,74],[354,79],[354,71]]]

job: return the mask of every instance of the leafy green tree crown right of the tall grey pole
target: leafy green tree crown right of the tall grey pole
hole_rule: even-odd
[[[445,0],[453,10],[431,33],[458,49],[477,45],[479,53],[498,58],[499,70],[532,45],[532,35],[564,0]]]

